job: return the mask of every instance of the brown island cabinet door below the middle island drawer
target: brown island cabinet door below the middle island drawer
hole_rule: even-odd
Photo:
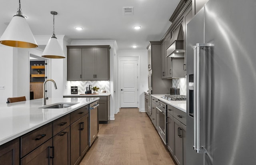
[[[70,165],[70,127],[53,137],[54,165]]]

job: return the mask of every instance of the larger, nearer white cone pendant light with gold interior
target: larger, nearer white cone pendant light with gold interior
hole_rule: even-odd
[[[0,44],[18,48],[38,47],[26,18],[22,16],[20,0],[17,14],[12,17],[11,22],[1,36]]]

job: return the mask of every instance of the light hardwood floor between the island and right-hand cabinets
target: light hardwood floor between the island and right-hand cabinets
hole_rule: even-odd
[[[98,139],[80,165],[174,165],[145,112],[121,108],[99,125]]]

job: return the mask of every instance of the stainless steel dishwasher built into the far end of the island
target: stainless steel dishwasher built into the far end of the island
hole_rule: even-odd
[[[89,141],[90,146],[94,142],[94,140],[98,136],[98,101],[94,101],[90,103],[90,111],[89,111],[89,121],[90,121],[90,131],[89,131]]]

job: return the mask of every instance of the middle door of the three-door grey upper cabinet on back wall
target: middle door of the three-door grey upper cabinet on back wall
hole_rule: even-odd
[[[82,50],[82,80],[95,80],[95,48]]]

